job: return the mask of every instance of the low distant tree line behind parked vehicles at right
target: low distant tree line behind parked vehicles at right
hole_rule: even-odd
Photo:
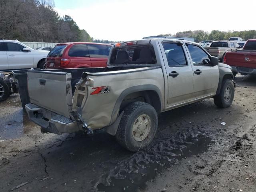
[[[177,32],[176,34],[160,34],[160,36],[176,36],[195,38],[195,42],[202,40],[228,40],[230,37],[241,37],[244,40],[255,39],[256,30],[244,31],[219,31],[212,30],[210,33],[203,30]]]

